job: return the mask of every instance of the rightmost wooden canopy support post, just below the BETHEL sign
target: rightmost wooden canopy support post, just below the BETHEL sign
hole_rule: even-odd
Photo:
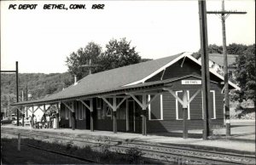
[[[188,138],[188,94],[186,90],[183,90],[183,139]]]

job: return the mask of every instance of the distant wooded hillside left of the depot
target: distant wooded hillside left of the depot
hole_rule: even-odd
[[[67,88],[73,83],[73,76],[68,73],[20,73],[19,74],[19,98],[26,100],[26,84],[28,94],[32,94],[29,100],[43,98],[47,94],[55,94]],[[16,102],[16,76],[15,74],[1,74],[1,111]]]

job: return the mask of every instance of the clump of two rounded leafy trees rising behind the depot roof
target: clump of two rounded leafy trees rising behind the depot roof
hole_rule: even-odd
[[[79,48],[76,53],[72,53],[67,57],[68,71],[72,75],[76,75],[81,79],[88,75],[89,68],[83,67],[91,60],[92,73],[99,71],[107,71],[113,68],[137,64],[142,58],[138,55],[135,47],[131,48],[131,42],[127,42],[125,38],[120,41],[112,39],[106,45],[106,51],[102,53],[102,48],[96,43],[88,43],[85,48]],[[147,60],[143,60],[147,61]]]

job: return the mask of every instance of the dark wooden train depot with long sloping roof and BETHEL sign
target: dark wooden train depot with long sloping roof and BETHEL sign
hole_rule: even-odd
[[[223,82],[224,77],[210,69],[211,127],[224,126]],[[127,65],[90,74],[44,99],[13,105],[20,111],[32,107],[32,113],[45,113],[45,105],[55,105],[59,128],[144,135],[202,129],[201,62],[183,53]]]

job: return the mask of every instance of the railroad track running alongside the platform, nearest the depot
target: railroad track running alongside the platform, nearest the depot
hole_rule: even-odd
[[[22,132],[21,132],[22,131]],[[203,163],[203,164],[255,164],[255,156],[241,155],[234,153],[226,153],[219,151],[203,151],[191,149],[188,147],[181,147],[177,145],[153,145],[144,142],[129,142],[124,140],[115,140],[108,138],[93,138],[92,136],[81,137],[73,134],[60,134],[46,131],[30,131],[22,129],[17,132],[17,129],[7,130],[1,129],[2,133],[18,134],[28,138],[37,137],[37,139],[52,139],[72,142],[73,145],[90,145],[91,147],[98,147],[101,145],[108,145],[110,151],[119,151],[125,153],[130,148],[137,147],[143,152],[143,156],[153,160],[160,160],[164,162],[183,162]]]

